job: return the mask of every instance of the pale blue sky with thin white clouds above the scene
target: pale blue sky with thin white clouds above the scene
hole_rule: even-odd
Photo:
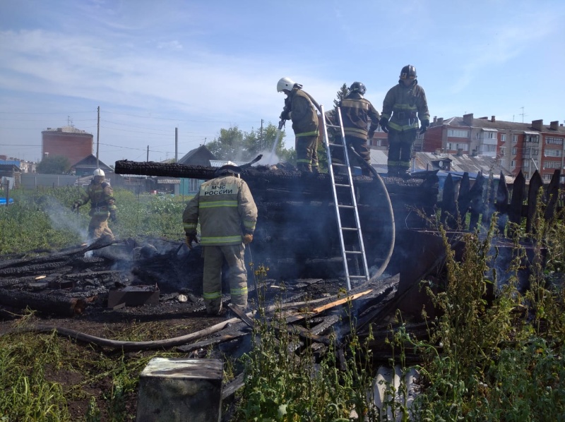
[[[283,76],[326,109],[359,80],[381,111],[406,64],[432,117],[563,123],[564,47],[561,0],[0,0],[0,155],[69,122],[96,144],[100,107],[106,164],[174,157],[175,128],[182,157],[276,124]]]

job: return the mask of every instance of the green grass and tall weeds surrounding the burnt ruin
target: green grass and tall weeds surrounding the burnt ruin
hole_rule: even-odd
[[[76,188],[13,192],[16,204],[0,209],[0,251],[16,253],[60,248],[81,241],[80,231],[59,228],[51,215],[60,208],[76,227],[88,224],[87,210],[73,215],[69,207]],[[122,237],[182,236],[184,204],[176,198],[116,193]],[[55,208],[54,208],[55,207]],[[537,216],[543,215],[538,210]],[[395,415],[420,421],[563,421],[565,415],[565,225],[559,218],[537,217],[533,234],[514,227],[511,263],[504,285],[494,264],[496,219],[484,231],[463,234],[456,251],[439,227],[446,247],[445,286],[427,283],[439,316],[429,318],[429,339],[415,339],[398,314],[400,329],[390,342],[391,364],[410,369],[403,356],[416,351],[422,391],[408,409],[406,402],[387,404]],[[521,237],[518,237],[518,234]],[[457,255],[460,253],[461,255]],[[457,255],[457,256],[456,256]],[[529,289],[518,279],[529,271]],[[256,276],[266,277],[258,267]],[[149,339],[153,329],[139,327],[124,339]],[[254,348],[244,356],[246,386],[240,396],[238,421],[347,421],[351,411],[376,421],[379,410],[367,396],[374,378],[366,342],[351,326],[346,354],[338,354],[338,337],[323,354],[286,330],[282,312],[267,322],[261,313]],[[369,340],[371,337],[369,336]],[[343,341],[343,339],[341,339]],[[86,350],[85,350],[86,349]],[[299,359],[295,351],[299,350]],[[163,356],[163,354],[160,354]],[[0,337],[0,421],[69,421],[66,401],[90,402],[85,421],[128,420],[124,397],[135,394],[139,371],[151,356],[100,354],[54,334],[11,334]],[[230,363],[231,365],[231,363]],[[345,365],[345,370],[343,370]],[[81,374],[65,389],[57,374]],[[96,375],[95,375],[96,374]],[[105,385],[103,403],[86,386]],[[389,388],[393,389],[392,386]],[[400,390],[405,388],[402,385]],[[392,394],[394,395],[394,394]],[[131,409],[130,409],[131,410]],[[131,411],[129,412],[131,414]],[[131,416],[130,416],[131,418]]]

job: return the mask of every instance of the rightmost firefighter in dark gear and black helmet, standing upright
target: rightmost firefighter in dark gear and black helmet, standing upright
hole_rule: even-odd
[[[416,68],[404,66],[398,85],[393,86],[383,101],[381,128],[388,132],[388,175],[410,174],[412,145],[416,140],[418,119],[420,133],[427,131],[429,111],[424,88],[418,85]]]

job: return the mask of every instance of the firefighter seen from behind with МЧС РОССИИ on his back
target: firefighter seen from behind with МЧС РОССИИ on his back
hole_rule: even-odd
[[[227,262],[232,303],[247,307],[247,270],[245,245],[253,241],[257,207],[249,186],[239,179],[241,169],[228,162],[215,173],[215,179],[202,183],[184,209],[182,222],[186,245],[192,249],[200,220],[200,243],[203,246],[203,292],[206,311],[222,311],[222,264]]]

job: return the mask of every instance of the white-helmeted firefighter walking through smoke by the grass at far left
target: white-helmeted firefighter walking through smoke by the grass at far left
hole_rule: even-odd
[[[105,181],[104,171],[96,169],[90,185],[83,192],[82,198],[73,204],[72,210],[85,205],[90,201],[90,223],[88,224],[88,240],[93,241],[102,235],[114,239],[112,230],[108,227],[108,217],[112,222],[117,222],[114,191]]]

